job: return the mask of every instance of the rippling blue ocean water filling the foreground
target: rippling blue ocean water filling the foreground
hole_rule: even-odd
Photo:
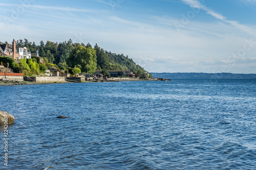
[[[15,116],[0,169],[256,169],[256,80],[18,85],[0,94],[0,110]]]

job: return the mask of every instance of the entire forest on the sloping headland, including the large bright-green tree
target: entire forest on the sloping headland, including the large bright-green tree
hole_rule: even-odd
[[[64,42],[40,41],[39,45],[24,40],[16,40],[16,45],[27,47],[29,51],[38,51],[39,56],[44,59],[46,66],[72,72],[79,68],[81,72],[93,74],[98,70],[132,70],[139,77],[145,72],[144,68],[136,65],[133,59],[123,54],[115,54],[104,50],[97,44],[93,47],[90,43],[74,43],[70,39]]]

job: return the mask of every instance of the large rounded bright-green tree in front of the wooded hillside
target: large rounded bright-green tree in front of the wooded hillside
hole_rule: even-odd
[[[93,74],[97,67],[96,52],[91,46],[85,47],[78,44],[71,52],[67,61],[71,67],[80,65],[82,72],[86,72],[88,67],[91,74]]]

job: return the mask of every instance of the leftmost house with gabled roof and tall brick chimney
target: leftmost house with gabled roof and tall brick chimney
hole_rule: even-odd
[[[13,40],[12,45],[0,43],[0,56],[10,57],[14,60],[19,60],[19,54],[16,49],[16,42]]]

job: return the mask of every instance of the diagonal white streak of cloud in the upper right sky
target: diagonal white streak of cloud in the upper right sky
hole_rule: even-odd
[[[185,4],[189,5],[190,7],[204,10],[204,11],[206,11],[207,14],[210,14],[211,16],[214,16],[217,19],[220,19],[226,23],[229,23],[231,26],[236,27],[237,29],[239,29],[243,32],[246,32],[247,34],[249,34],[251,36],[256,36],[256,32],[254,29],[252,29],[246,25],[242,25],[238,21],[227,20],[227,18],[225,16],[207,8],[205,5],[201,4],[198,0],[181,0],[181,1],[184,2]],[[256,2],[256,0],[246,0],[246,1]]]

